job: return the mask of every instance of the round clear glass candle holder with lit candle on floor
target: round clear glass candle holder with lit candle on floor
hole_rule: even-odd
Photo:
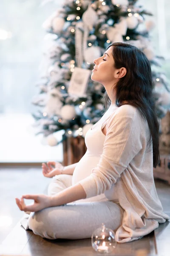
[[[92,234],[91,244],[96,252],[111,253],[116,248],[114,231],[102,223],[102,226]]]

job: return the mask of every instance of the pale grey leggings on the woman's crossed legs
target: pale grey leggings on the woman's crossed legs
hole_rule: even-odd
[[[72,175],[56,175],[48,186],[48,195],[54,195],[72,185]],[[118,202],[72,202],[61,206],[31,212],[29,228],[34,234],[47,239],[91,238],[98,227],[116,231],[122,224],[123,209]]]

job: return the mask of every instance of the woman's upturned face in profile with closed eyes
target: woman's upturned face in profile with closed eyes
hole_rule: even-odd
[[[94,60],[94,70],[91,74],[91,79],[103,85],[115,81],[116,69],[113,60],[113,46],[109,47],[102,57]]]

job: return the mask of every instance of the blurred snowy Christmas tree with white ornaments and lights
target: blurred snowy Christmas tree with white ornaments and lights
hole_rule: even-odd
[[[170,89],[161,70],[161,56],[155,54],[150,39],[152,15],[136,0],[65,0],[43,24],[47,47],[42,61],[39,94],[33,103],[37,134],[48,136],[49,145],[57,145],[52,134],[85,137],[108,105],[103,107],[105,88],[90,79],[94,59],[113,42],[126,42],[141,49],[150,61],[154,96],[159,118],[169,108]],[[51,135],[50,135],[51,134]]]

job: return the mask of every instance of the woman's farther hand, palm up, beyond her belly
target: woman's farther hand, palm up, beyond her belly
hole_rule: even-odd
[[[64,166],[59,162],[47,162],[47,165],[42,163],[42,174],[48,178],[61,174],[63,169]]]

